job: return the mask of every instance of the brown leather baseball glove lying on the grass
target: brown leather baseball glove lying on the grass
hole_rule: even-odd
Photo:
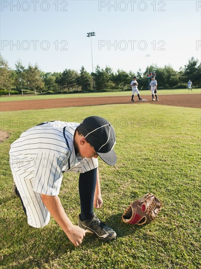
[[[129,224],[148,224],[155,220],[162,203],[152,193],[147,193],[132,202],[122,215],[122,221]]]

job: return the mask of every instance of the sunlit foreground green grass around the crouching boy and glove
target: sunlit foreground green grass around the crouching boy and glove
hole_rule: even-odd
[[[106,244],[87,234],[76,248],[52,218],[42,229],[27,224],[11,192],[8,152],[21,132],[44,119],[80,122],[93,114],[107,118],[117,134],[117,165],[100,160],[104,204],[95,212],[118,238]],[[2,112],[0,129],[10,134],[0,144],[0,268],[201,268],[200,109],[122,104]],[[156,222],[124,224],[125,208],[147,192],[164,205]],[[78,175],[64,174],[60,200],[77,224]]]

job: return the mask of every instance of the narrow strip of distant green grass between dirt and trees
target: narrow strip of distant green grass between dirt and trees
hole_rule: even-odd
[[[189,94],[188,89],[178,90],[159,90],[159,94]],[[1,96],[0,102],[22,101],[22,100],[41,100],[41,99],[57,99],[57,98],[78,98],[78,97],[100,97],[100,96],[129,96],[132,91],[109,91],[109,92],[89,92],[89,93],[63,93],[63,94],[45,94],[45,95],[14,95]],[[150,90],[141,90],[141,95],[150,95]],[[201,89],[193,89],[190,94],[201,93]]]

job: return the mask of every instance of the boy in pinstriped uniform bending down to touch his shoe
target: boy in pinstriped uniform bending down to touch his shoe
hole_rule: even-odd
[[[114,128],[98,116],[80,124],[45,122],[22,133],[9,154],[14,193],[20,197],[28,224],[44,227],[51,214],[75,246],[81,244],[85,230],[104,241],[115,239],[115,231],[93,212],[93,206],[102,205],[97,157],[115,165],[115,142]],[[79,226],[68,219],[58,197],[64,172],[80,173]]]

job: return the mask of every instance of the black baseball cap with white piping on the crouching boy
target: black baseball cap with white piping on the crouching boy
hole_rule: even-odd
[[[80,123],[79,128],[99,157],[107,164],[115,165],[117,162],[117,155],[114,151],[116,134],[110,122],[99,116],[90,116]]]

